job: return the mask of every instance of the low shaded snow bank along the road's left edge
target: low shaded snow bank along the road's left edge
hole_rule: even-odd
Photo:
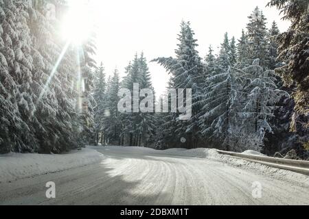
[[[0,183],[95,164],[103,157],[98,151],[88,148],[62,155],[0,155]]]

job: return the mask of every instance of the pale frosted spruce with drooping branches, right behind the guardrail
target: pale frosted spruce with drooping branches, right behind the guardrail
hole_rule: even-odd
[[[273,133],[269,122],[274,116],[276,104],[283,96],[288,97],[287,92],[277,88],[275,72],[264,70],[259,62],[257,59],[251,66],[242,69],[250,81],[242,88],[245,101],[243,112],[239,115],[243,124],[246,124],[246,135],[252,133],[252,138],[243,136],[240,145],[248,144],[256,151],[262,150],[265,134]]]

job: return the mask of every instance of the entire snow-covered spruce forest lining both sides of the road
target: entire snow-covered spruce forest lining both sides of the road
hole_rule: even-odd
[[[56,5],[56,17],[47,15]],[[272,0],[291,21],[279,33],[259,8],[240,39],[225,34],[220,51],[198,53],[182,22],[175,57],[158,57],[168,88],[192,89],[192,117],[179,113],[120,114],[119,89],[150,88],[148,60],[137,54],[106,78],[94,36],[71,47],[59,36],[65,2],[0,0],[0,153],[62,153],[85,144],[254,149],[273,155],[296,149],[308,157],[308,2]],[[64,51],[65,49],[65,51]],[[61,57],[61,59],[59,58]],[[155,92],[154,92],[155,93]],[[156,101],[169,96],[156,96]],[[137,101],[137,100],[132,100]]]

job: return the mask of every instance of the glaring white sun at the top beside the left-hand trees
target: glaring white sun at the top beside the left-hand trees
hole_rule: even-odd
[[[84,3],[84,1],[70,0],[68,4],[69,10],[62,21],[62,38],[80,45],[91,34],[93,18],[87,3]]]

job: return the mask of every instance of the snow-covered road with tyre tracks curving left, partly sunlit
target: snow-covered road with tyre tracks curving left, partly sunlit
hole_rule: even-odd
[[[98,164],[0,183],[0,205],[309,205],[308,184],[284,177],[148,149],[97,150],[106,157]]]

